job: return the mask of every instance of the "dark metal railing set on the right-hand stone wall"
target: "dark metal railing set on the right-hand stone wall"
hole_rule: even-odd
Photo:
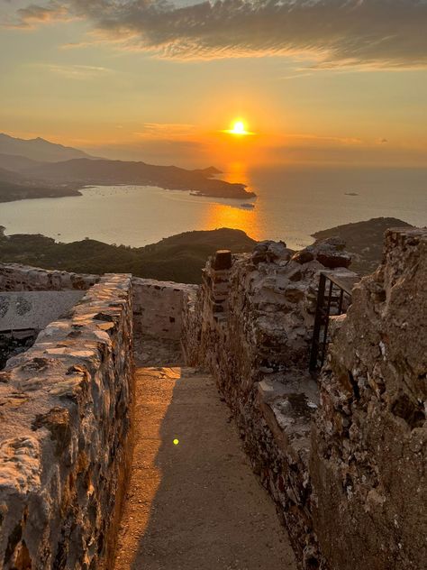
[[[359,280],[359,275],[352,271],[321,272],[310,354],[311,372],[319,371],[323,366],[329,344],[330,317],[347,312],[351,304],[351,290]]]

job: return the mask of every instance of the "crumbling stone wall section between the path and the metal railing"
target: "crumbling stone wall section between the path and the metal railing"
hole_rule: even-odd
[[[186,361],[213,372],[304,568],[325,567],[311,514],[318,389],[308,361],[319,271],[348,264],[341,248],[328,243],[294,254],[285,244],[264,243],[228,267],[215,258],[184,315]]]

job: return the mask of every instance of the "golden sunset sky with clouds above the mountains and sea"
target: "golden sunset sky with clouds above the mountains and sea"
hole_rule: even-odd
[[[425,0],[0,0],[0,21],[5,133],[195,167],[427,166]]]

